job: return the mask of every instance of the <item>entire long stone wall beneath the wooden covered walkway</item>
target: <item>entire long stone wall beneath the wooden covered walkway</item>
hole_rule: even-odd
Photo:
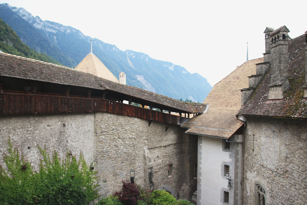
[[[165,186],[177,198],[190,199],[196,190],[193,178],[197,160],[197,141],[185,129],[109,113],[4,116],[0,118],[0,163],[13,144],[37,166],[37,145],[55,149],[63,156],[67,150],[84,153],[88,164],[95,161],[99,175],[99,194],[110,195],[130,181],[146,189]],[[172,170],[169,173],[169,165]]]

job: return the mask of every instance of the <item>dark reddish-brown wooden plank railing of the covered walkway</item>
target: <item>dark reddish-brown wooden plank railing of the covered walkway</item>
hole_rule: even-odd
[[[19,92],[19,91],[18,91]],[[21,91],[22,92],[22,91]],[[181,124],[186,118],[120,102],[85,97],[8,93],[0,91],[0,115],[31,113],[108,112],[168,124]]]

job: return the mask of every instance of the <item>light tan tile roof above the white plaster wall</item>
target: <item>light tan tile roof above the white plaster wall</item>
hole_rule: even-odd
[[[187,133],[229,138],[243,124],[237,120],[236,114],[241,108],[240,89],[248,87],[248,76],[256,74],[256,63],[263,58],[247,61],[218,82],[204,104],[208,110],[189,119],[181,127],[190,128]]]

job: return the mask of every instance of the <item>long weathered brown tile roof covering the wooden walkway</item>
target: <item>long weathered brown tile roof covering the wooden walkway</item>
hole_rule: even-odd
[[[7,53],[0,53],[0,76],[110,90],[175,108],[183,112],[202,113],[206,108],[205,104],[185,103],[140,88],[109,81],[82,71]]]

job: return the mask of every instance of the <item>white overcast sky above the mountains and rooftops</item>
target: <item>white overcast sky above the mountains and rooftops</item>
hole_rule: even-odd
[[[0,0],[33,16],[199,73],[213,86],[246,61],[263,57],[266,27],[307,30],[305,0],[66,1]],[[85,48],[88,49],[88,48]]]

